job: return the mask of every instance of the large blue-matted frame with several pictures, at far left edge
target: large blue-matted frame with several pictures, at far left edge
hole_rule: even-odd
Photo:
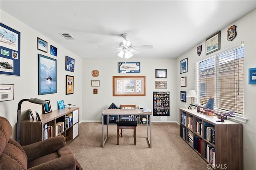
[[[20,32],[0,23],[0,74],[20,76]]]

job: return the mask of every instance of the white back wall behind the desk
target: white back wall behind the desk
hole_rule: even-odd
[[[100,121],[104,108],[112,103],[136,104],[153,109],[153,92],[170,92],[170,116],[167,121],[176,121],[176,59],[141,59],[135,56],[126,62],[140,62],[140,73],[118,73],[118,62],[123,62],[116,55],[112,59],[83,59],[83,115],[84,121]],[[155,78],[155,69],[167,69],[167,78]],[[92,70],[98,70],[99,76],[93,77]],[[146,96],[113,96],[112,76],[146,76]],[[91,80],[100,80],[100,87],[92,87]],[[167,81],[167,89],[155,89],[155,81]],[[93,89],[98,88],[98,94]],[[160,116],[153,116],[152,121],[160,121]]]

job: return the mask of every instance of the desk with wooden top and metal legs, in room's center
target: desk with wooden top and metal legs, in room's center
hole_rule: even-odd
[[[107,136],[104,139],[104,115],[107,116]],[[142,109],[106,109],[106,113],[102,112],[102,148],[104,147],[106,140],[108,139],[108,120],[109,115],[146,115],[147,116],[147,141],[149,144],[149,147],[152,148],[152,128],[151,128],[151,112],[143,112]],[[150,139],[148,139],[148,126],[149,126],[149,135]]]

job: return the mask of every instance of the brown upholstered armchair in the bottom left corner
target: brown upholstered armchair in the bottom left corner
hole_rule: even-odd
[[[10,138],[12,126],[0,117],[1,170],[76,170],[82,169],[65,137],[53,137],[24,147]]]

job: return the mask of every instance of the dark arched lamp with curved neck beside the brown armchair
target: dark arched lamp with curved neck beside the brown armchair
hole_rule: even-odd
[[[16,132],[16,141],[20,143],[20,117],[21,117],[21,104],[24,101],[28,101],[34,104],[46,104],[44,100],[31,98],[31,99],[22,99],[18,103],[18,110],[17,110],[17,132]]]

